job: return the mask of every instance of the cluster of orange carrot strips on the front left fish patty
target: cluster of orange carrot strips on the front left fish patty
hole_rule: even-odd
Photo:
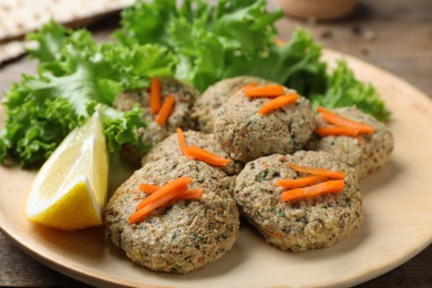
[[[142,222],[153,210],[167,205],[173,200],[199,198],[204,193],[204,188],[189,191],[187,184],[191,183],[192,178],[189,177],[178,177],[157,188],[152,185],[152,191],[155,191],[137,205],[137,210],[128,217],[128,223],[134,224]],[[140,185],[140,188],[141,186],[142,185]]]

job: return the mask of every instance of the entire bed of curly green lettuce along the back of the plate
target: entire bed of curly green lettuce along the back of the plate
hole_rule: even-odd
[[[296,90],[312,105],[356,105],[387,120],[389,112],[376,90],[356,79],[341,60],[327,72],[321,45],[297,29],[285,45],[275,43],[280,9],[268,11],[265,0],[142,1],[122,12],[117,41],[96,43],[84,29],[54,22],[28,38],[37,42],[29,54],[40,62],[35,75],[23,75],[3,95],[7,119],[0,136],[0,161],[13,157],[22,166],[43,162],[74,127],[103,104],[109,150],[130,143],[145,127],[142,110],[119,112],[114,97],[123,91],[147,89],[152,78],[175,76],[199,91],[227,78],[261,76]],[[145,21],[143,21],[145,19]]]

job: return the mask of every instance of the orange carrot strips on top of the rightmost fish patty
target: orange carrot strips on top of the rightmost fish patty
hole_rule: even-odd
[[[332,111],[327,110],[322,106],[319,106],[317,109],[317,112],[320,113],[320,116],[326,122],[333,124],[336,126],[346,128],[346,130],[330,128],[327,131],[325,130],[323,131],[325,135],[326,135],[326,133],[329,133],[331,131],[335,131],[335,132],[339,133],[338,135],[341,135],[340,133],[342,133],[344,131],[347,136],[352,136],[356,132],[357,132],[357,134],[354,136],[357,136],[358,134],[372,134],[376,131],[374,127],[372,127],[372,126],[369,126],[364,123],[360,123],[357,121],[352,121],[352,120],[347,119],[347,117],[343,117],[343,116],[338,115],[338,114],[333,113]],[[322,133],[322,130],[316,130],[316,132],[319,134],[320,132]]]

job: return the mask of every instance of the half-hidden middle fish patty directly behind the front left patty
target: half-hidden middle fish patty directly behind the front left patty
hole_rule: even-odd
[[[188,146],[198,146],[212,153],[215,153],[220,157],[229,158],[228,153],[225,152],[220,144],[215,140],[213,134],[204,134],[198,131],[188,130],[184,132],[184,137]],[[158,144],[156,144],[147,154],[145,154],[141,160],[141,164],[145,165],[148,162],[156,161],[160,158],[179,157],[182,155],[183,154],[178,144],[177,134],[173,133]],[[220,168],[227,175],[237,175],[243,169],[243,165],[232,158],[229,160],[229,164],[216,168]]]

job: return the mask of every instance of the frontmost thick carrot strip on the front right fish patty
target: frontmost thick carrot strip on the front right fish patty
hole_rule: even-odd
[[[343,191],[344,182],[342,179],[327,181],[302,188],[289,189],[280,194],[284,202],[299,200],[327,193],[339,193]]]

